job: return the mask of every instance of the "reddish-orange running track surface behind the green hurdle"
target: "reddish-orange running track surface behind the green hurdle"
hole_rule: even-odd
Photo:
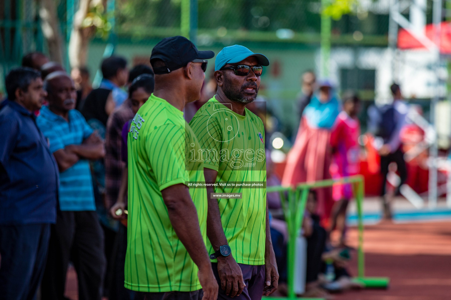
[[[348,241],[357,246],[356,228],[350,228]],[[335,300],[451,299],[451,220],[366,226],[364,249],[365,275],[390,277],[390,287],[346,291]],[[356,253],[350,264],[353,274],[357,274],[355,257]],[[66,296],[78,299],[74,269],[68,272]]]

